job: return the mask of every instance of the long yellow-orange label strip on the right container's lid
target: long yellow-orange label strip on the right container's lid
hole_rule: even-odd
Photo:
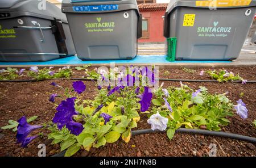
[[[251,0],[208,0],[196,1],[196,6],[208,7],[232,7],[232,6],[248,6]]]

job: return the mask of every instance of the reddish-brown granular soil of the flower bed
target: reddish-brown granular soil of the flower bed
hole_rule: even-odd
[[[255,68],[227,68],[227,70],[240,73],[245,79],[256,79]],[[201,77],[199,75],[200,70],[191,74],[184,73],[181,69],[168,69],[170,74],[164,76],[160,73],[160,77],[163,75],[165,78],[209,79]],[[76,71],[74,77],[79,77],[81,75],[79,73],[81,72]],[[0,127],[6,125],[9,119],[18,120],[23,115],[27,117],[39,116],[32,124],[40,124],[51,120],[55,114],[56,107],[48,101],[49,95],[52,93],[62,93],[58,87],[49,85],[51,82],[56,82],[63,87],[72,87],[72,81],[59,79],[25,83],[1,82]],[[256,119],[255,83],[247,83],[246,85],[241,85],[240,83],[184,83],[193,89],[205,86],[209,89],[210,93],[225,93],[229,91],[228,96],[233,103],[236,103],[236,100],[240,99],[240,94],[244,93],[242,99],[249,110],[248,118],[242,120],[234,114],[233,117],[229,117],[231,123],[222,128],[222,131],[256,137],[256,129],[252,124],[253,120]],[[85,84],[87,86],[86,91],[81,96],[84,99],[93,99],[97,93],[96,85],[90,81],[85,81]],[[179,86],[179,82],[164,82],[164,87],[168,86]],[[56,103],[59,102],[60,98],[56,98]],[[150,125],[147,124],[146,115],[142,115],[138,129],[145,128],[150,128]],[[44,132],[46,133],[46,131]],[[20,145],[16,144],[14,132],[0,129],[0,156],[37,156],[39,150],[37,146],[42,143],[47,146],[47,156],[60,152],[59,145],[51,145],[51,141],[47,140],[47,138],[38,138],[28,148],[20,148]],[[244,141],[182,133],[176,133],[170,141],[165,133],[154,133],[134,136],[128,144],[119,140],[114,144],[107,144],[104,148],[92,148],[89,153],[80,151],[76,156],[208,156],[208,146],[212,143],[217,145],[217,156],[256,155],[255,144]],[[135,145],[135,147],[132,145]]]

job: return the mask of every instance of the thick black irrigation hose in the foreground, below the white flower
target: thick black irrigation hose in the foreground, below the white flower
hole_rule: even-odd
[[[217,131],[208,131],[204,129],[188,129],[188,128],[179,128],[175,131],[176,133],[192,133],[192,134],[201,134],[201,135],[209,135],[209,136],[217,136],[217,137],[224,137],[224,138],[232,138],[241,141],[247,141],[256,143],[256,138],[243,136],[235,133],[228,133],[228,132],[217,132]],[[165,133],[165,131],[153,131],[152,129],[139,129],[135,131],[131,131],[131,136],[137,136],[142,134],[148,133]],[[66,150],[53,155],[52,157],[64,157]]]

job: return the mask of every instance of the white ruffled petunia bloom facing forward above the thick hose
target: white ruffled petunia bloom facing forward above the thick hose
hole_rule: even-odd
[[[164,131],[167,128],[168,119],[161,116],[158,113],[151,115],[150,119],[147,120],[148,124],[151,124],[151,129],[154,131],[156,129]]]

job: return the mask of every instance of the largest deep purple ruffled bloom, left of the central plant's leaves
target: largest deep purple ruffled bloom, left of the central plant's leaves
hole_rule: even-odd
[[[57,112],[55,113],[52,122],[57,124],[59,129],[63,128],[65,124],[73,121],[73,115],[77,115],[75,110],[75,99],[76,98],[67,98],[67,100],[61,101],[56,108]]]

